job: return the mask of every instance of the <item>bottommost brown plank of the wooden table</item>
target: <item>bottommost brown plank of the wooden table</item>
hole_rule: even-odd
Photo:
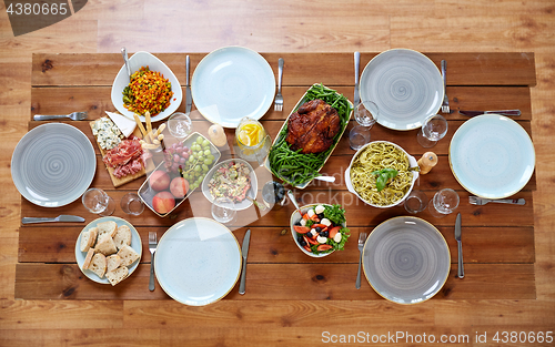
[[[357,264],[248,264],[246,268],[246,294],[240,295],[235,285],[224,300],[383,299],[365,280],[355,289]],[[77,265],[18,264],[17,273],[16,298],[21,299],[170,299],[158,284],[154,292],[148,290],[148,264],[140,264],[114,287],[90,280]],[[452,265],[434,299],[535,298],[533,264],[468,264],[464,280],[455,274]]]

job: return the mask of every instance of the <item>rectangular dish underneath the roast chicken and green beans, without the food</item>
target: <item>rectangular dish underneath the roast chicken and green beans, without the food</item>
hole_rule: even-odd
[[[304,154],[306,156],[312,156],[312,157],[319,156],[319,163],[320,164],[314,167],[313,175],[310,178],[303,180],[303,182],[294,182],[294,180],[292,180],[290,176],[286,176],[285,174],[283,174],[283,172],[281,171],[280,167],[278,167],[278,166],[274,165],[274,163],[276,161],[279,161],[274,156],[278,153],[276,147],[281,146],[281,144],[285,143],[285,137],[287,136],[287,122],[289,122],[289,119],[291,118],[291,115],[294,112],[296,112],[296,110],[302,104],[304,104],[307,101],[314,100],[314,98],[311,98],[309,95],[309,92],[313,91],[313,90],[322,90],[322,91],[325,91],[325,92],[333,93],[333,95],[334,95],[333,98],[342,98],[342,99],[344,98],[344,101],[346,102],[347,110],[346,110],[345,114],[340,114],[340,118],[341,118],[341,130],[335,135],[333,144],[330,146],[330,149],[326,150],[325,152],[317,153],[317,154]],[[289,114],[287,119],[285,119],[285,121],[283,122],[283,125],[281,126],[280,131],[278,132],[278,135],[275,136],[275,139],[273,141],[272,147],[270,149],[270,153],[269,153],[269,155],[268,155],[268,157],[266,157],[266,160],[264,162],[264,167],[266,167],[270,172],[272,172],[272,174],[274,174],[276,177],[279,177],[280,180],[282,180],[284,183],[287,183],[291,186],[294,186],[294,187],[300,188],[300,190],[305,188],[314,180],[315,176],[320,175],[319,174],[320,171],[322,170],[322,167],[324,167],[325,163],[327,162],[327,160],[332,155],[333,151],[335,150],[335,146],[337,145],[339,141],[341,140],[341,136],[343,136],[343,133],[345,132],[345,129],[349,125],[349,120],[351,119],[352,114],[353,114],[353,103],[351,101],[349,101],[349,99],[346,99],[342,94],[337,93],[335,90],[332,90],[332,89],[330,89],[330,88],[327,88],[327,86],[325,86],[323,84],[320,84],[320,83],[313,84],[303,94],[303,96],[299,100],[299,102],[295,104],[295,106],[293,108],[293,110]],[[290,150],[290,152],[294,153],[291,150]],[[304,167],[301,163],[297,163],[297,162],[291,162],[287,165],[290,165],[290,167],[293,167],[293,170]]]

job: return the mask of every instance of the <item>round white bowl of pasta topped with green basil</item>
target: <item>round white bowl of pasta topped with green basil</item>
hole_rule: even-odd
[[[414,156],[389,141],[364,145],[353,155],[345,171],[347,190],[379,208],[401,204],[417,177],[418,164]]]

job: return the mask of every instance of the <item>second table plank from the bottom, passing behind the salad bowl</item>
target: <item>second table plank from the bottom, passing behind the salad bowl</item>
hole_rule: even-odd
[[[369,227],[350,227],[351,239],[345,251],[335,252],[323,258],[304,255],[296,247],[289,227],[242,227],[233,234],[241,242],[246,228],[252,229],[249,264],[300,264],[300,263],[359,263],[356,238]],[[20,263],[75,263],[75,241],[81,226],[22,226],[19,229]],[[155,232],[160,239],[168,228],[163,226],[142,226],[138,233],[142,241],[141,263],[150,263],[148,247],[149,232]],[[452,263],[456,263],[456,242],[454,227],[438,227],[448,244]],[[282,231],[285,231],[282,233]],[[533,264],[534,229],[529,226],[512,227],[464,227],[464,261],[481,264]]]

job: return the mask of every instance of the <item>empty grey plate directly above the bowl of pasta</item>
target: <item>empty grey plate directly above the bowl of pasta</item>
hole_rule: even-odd
[[[361,101],[380,109],[376,122],[393,130],[412,130],[436,114],[444,88],[440,70],[426,55],[394,49],[374,57],[364,68]]]

